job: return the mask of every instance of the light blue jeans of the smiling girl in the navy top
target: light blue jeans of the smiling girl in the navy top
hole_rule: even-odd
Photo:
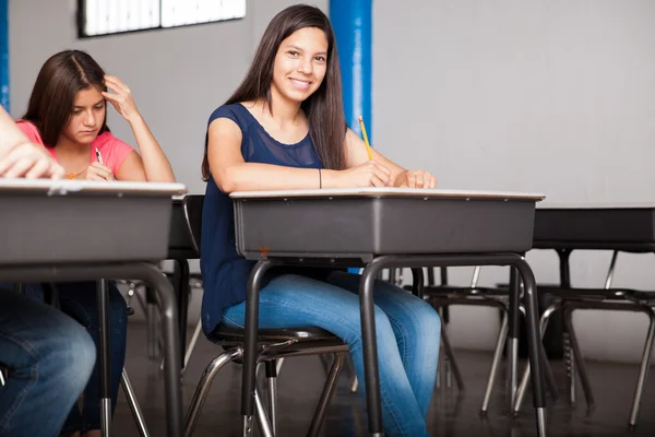
[[[319,327],[350,346],[364,388],[359,275],[335,272],[326,282],[299,275],[273,279],[260,295],[260,328]],[[438,312],[388,282],[374,285],[376,331],[382,420],[388,436],[427,436],[441,334]],[[227,308],[223,320],[243,327],[246,303]]]

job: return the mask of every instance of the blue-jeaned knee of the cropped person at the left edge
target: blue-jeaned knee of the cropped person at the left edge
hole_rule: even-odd
[[[0,290],[0,436],[58,436],[95,363],[93,341],[57,309]]]

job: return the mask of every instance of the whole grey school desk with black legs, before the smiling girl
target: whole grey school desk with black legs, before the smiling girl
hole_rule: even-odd
[[[382,436],[373,282],[382,269],[511,265],[524,282],[537,430],[546,435],[534,274],[520,255],[533,241],[541,194],[367,188],[230,194],[237,250],[258,260],[248,283],[241,414],[252,429],[259,290],[272,265],[365,267],[360,280],[368,427]],[[420,285],[419,285],[420,287]],[[519,300],[519,287],[513,298]],[[517,305],[514,308],[519,310]],[[517,312],[515,315],[517,317]],[[429,333],[428,333],[429,334]]]

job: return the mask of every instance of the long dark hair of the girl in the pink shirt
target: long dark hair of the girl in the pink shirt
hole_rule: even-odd
[[[22,119],[36,126],[44,144],[55,146],[71,118],[75,94],[91,86],[107,91],[104,75],[100,66],[84,51],[64,50],[51,56],[38,72]],[[98,134],[108,130],[105,114]]]

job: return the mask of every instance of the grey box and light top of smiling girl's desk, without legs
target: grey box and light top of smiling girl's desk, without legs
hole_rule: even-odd
[[[270,257],[523,252],[541,194],[427,189],[231,194],[237,251]]]

